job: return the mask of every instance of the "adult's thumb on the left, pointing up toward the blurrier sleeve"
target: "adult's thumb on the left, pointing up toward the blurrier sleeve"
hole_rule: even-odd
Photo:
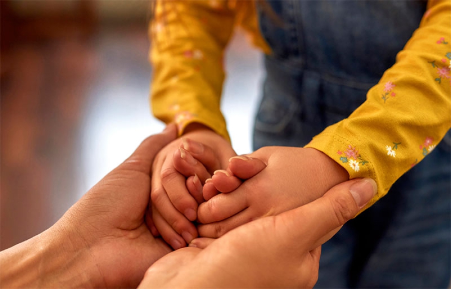
[[[119,167],[126,169],[132,167],[147,175],[150,174],[155,155],[177,136],[175,124],[170,123],[158,133],[144,139],[133,154]],[[124,168],[125,167],[125,168]]]

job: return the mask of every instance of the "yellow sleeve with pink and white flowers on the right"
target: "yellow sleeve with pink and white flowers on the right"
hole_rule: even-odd
[[[371,206],[450,128],[450,70],[451,1],[429,1],[419,28],[366,101],[307,147],[327,154],[351,178],[374,179]]]

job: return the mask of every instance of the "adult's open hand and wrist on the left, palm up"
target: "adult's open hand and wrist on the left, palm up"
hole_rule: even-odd
[[[152,236],[145,213],[154,156],[175,137],[172,124],[148,137],[55,225],[2,251],[2,287],[137,286],[172,251]]]

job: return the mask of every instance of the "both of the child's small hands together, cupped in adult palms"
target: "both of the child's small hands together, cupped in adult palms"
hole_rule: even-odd
[[[218,238],[316,200],[349,179],[343,167],[313,148],[263,147],[247,157],[237,157],[230,142],[209,129],[169,143],[152,166],[146,214],[152,234],[173,249],[199,236]]]

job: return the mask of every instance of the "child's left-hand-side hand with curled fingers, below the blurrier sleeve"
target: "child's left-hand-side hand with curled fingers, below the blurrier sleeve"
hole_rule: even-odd
[[[152,220],[163,239],[178,249],[197,237],[191,221],[197,218],[198,200],[186,187],[186,177],[174,167],[174,152],[188,162],[192,175],[203,184],[213,171],[225,167],[236,153],[229,141],[211,129],[190,124],[182,139],[169,143],[155,158],[152,174]],[[189,152],[190,154],[187,154]]]

